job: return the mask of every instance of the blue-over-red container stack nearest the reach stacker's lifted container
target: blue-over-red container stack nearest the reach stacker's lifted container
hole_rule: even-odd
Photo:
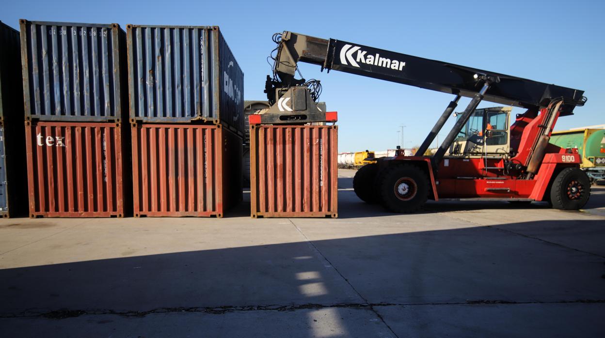
[[[242,198],[244,74],[218,27],[127,25],[134,216]]]

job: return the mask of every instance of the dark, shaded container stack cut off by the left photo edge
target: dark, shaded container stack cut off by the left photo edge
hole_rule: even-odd
[[[19,32],[0,22],[0,216],[27,215]]]

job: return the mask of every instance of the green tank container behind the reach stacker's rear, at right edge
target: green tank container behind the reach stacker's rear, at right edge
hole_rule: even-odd
[[[551,143],[561,148],[578,148],[586,174],[592,180],[605,179],[605,129],[555,131]]]

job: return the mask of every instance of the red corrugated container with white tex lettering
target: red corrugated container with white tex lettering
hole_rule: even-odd
[[[120,123],[25,122],[30,217],[123,217]]]

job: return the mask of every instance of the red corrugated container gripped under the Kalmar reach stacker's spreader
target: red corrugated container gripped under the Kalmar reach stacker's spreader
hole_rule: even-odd
[[[337,126],[250,126],[252,217],[338,217],[337,157]]]

